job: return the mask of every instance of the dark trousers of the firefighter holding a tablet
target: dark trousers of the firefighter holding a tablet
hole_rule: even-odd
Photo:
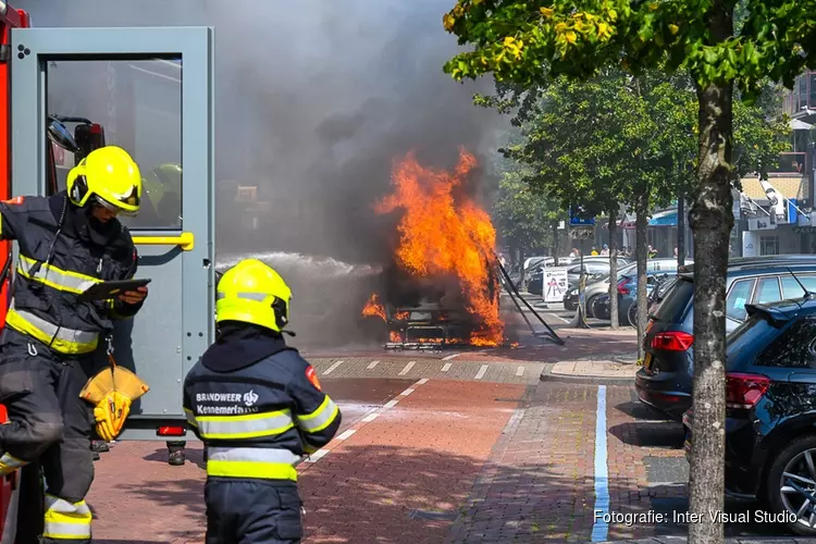
[[[0,404],[10,422],[0,425],[0,474],[32,461],[42,467],[45,517],[21,512],[20,524],[42,527],[44,543],[90,540],[94,410],[79,398],[87,382],[81,362],[11,329],[2,333]]]

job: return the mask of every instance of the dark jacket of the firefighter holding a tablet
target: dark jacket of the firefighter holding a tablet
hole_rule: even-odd
[[[143,302],[78,301],[96,283],[129,280],[137,254],[118,220],[101,223],[66,193],[0,202],[0,239],[16,240],[20,258],[5,323],[54,351],[88,354],[112,320],[129,318]]]

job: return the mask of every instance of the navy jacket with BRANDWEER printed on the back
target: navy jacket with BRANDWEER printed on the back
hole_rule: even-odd
[[[184,409],[209,477],[296,481],[295,462],[342,420],[297,349],[251,325],[221,331],[185,379]]]

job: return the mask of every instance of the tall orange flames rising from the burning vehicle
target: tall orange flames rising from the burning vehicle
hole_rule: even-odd
[[[396,248],[397,262],[408,272],[428,277],[458,277],[467,310],[481,318],[482,330],[470,343],[496,346],[504,323],[498,313],[498,289],[490,295],[490,262],[496,230],[490,215],[472,199],[454,191],[475,168],[475,158],[463,148],[453,171],[420,165],[413,153],[397,161],[392,172],[394,193],[374,206],[378,214],[403,211]]]

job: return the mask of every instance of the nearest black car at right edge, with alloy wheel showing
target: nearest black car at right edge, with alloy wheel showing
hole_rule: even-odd
[[[816,536],[816,299],[745,305],[745,312],[727,347],[726,490]],[[687,411],[687,458],[693,421]]]

